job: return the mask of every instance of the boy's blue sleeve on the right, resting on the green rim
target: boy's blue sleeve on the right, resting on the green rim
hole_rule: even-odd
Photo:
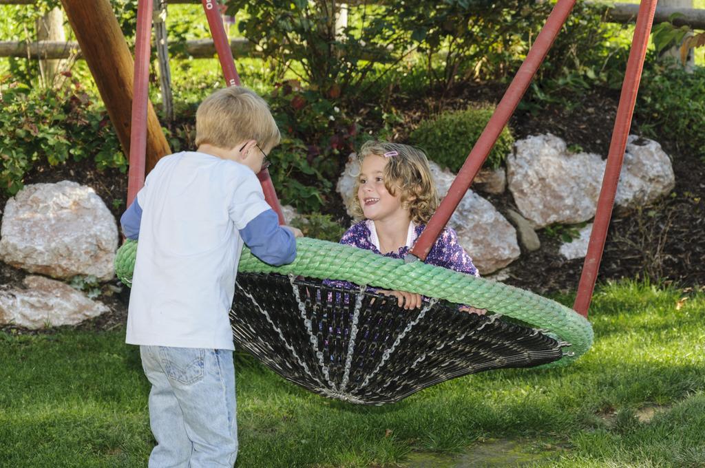
[[[240,236],[252,254],[266,264],[279,266],[289,264],[296,258],[294,234],[279,226],[279,218],[273,209],[267,209],[252,218],[240,229]]]

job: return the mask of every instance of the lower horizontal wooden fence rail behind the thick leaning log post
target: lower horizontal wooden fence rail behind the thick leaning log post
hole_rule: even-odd
[[[255,51],[252,43],[244,38],[231,39],[230,48],[235,57],[257,57],[262,53]],[[82,58],[78,42],[39,41],[27,45],[24,41],[0,41],[0,57],[27,58],[68,58],[78,54]],[[193,39],[186,41],[186,50],[173,51],[175,57],[212,58],[216,49],[211,39]]]

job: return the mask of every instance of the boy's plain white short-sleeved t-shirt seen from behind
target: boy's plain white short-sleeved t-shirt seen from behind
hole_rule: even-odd
[[[142,207],[126,342],[234,350],[228,312],[243,240],[269,209],[250,168],[197,152],[165,156]]]

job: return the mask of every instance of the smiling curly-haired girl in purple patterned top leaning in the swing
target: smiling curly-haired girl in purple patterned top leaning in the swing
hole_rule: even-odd
[[[439,206],[426,154],[406,144],[372,140],[362,145],[357,159],[360,174],[355,183],[357,197],[353,199],[352,209],[355,218],[362,221],[348,229],[340,243],[372,250],[385,257],[404,258]],[[479,277],[452,228],[443,228],[426,263]],[[396,297],[398,305],[405,309],[415,309],[422,304],[422,296],[416,293],[377,292]],[[467,306],[461,310],[486,312]]]

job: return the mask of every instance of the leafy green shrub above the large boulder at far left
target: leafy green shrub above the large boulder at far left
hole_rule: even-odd
[[[39,161],[55,166],[92,156],[99,169],[125,172],[107,113],[94,109],[78,81],[59,91],[0,82],[0,105],[0,190],[14,195]]]

